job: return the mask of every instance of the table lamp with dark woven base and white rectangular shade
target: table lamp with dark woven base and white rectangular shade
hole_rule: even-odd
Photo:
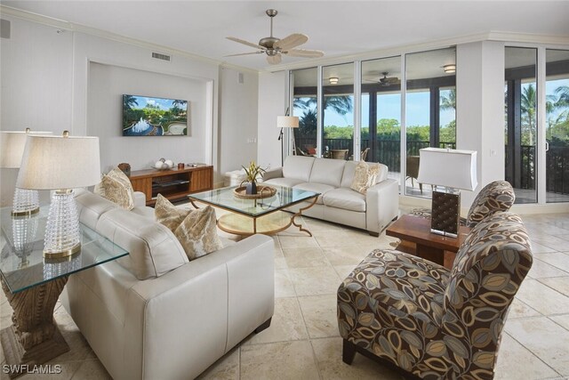
[[[477,187],[477,152],[425,148],[419,150],[417,182],[435,186],[430,231],[456,238],[461,216],[460,190]],[[438,190],[438,187],[444,187]]]

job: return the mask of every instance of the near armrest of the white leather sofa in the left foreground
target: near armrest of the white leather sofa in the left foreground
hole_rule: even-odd
[[[132,376],[194,378],[271,318],[274,244],[254,235],[134,285],[124,326]]]

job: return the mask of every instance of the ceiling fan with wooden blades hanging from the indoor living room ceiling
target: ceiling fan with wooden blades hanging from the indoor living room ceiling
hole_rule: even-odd
[[[296,46],[306,44],[306,42],[309,40],[309,36],[303,35],[301,33],[293,33],[290,36],[285,36],[283,39],[273,36],[273,18],[276,16],[277,12],[274,9],[268,9],[266,13],[268,17],[270,17],[270,36],[261,38],[259,44],[245,41],[236,37],[227,37],[231,41],[238,42],[239,44],[246,44],[247,46],[251,46],[259,50],[251,53],[230,54],[226,55],[226,57],[266,53],[268,63],[271,65],[276,65],[277,63],[281,62],[282,54],[290,55],[291,57],[303,58],[318,58],[324,55],[324,53],[320,52],[319,50],[294,49]]]

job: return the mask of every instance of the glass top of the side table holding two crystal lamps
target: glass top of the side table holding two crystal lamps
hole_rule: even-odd
[[[129,253],[80,224],[81,251],[61,259],[44,258],[44,234],[48,206],[25,217],[12,217],[12,207],[0,209],[0,274],[12,293],[44,284]]]

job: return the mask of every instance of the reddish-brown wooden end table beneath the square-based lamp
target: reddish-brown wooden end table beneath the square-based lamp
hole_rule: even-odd
[[[440,265],[445,265],[445,251],[456,254],[469,232],[469,227],[460,226],[458,238],[437,235],[430,231],[430,219],[413,215],[401,216],[396,222],[391,223],[386,230],[388,236],[402,240],[400,247],[403,249],[400,250]],[[414,252],[413,243],[415,245]],[[452,262],[450,265],[449,263],[445,265],[447,268],[449,266],[452,267]]]

